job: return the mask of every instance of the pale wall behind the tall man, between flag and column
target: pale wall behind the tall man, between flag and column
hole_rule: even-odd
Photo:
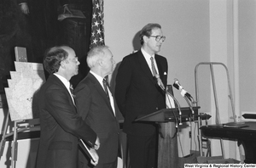
[[[195,64],[209,61],[209,2],[205,0],[111,0],[104,2],[105,42],[117,63],[134,50],[137,32],[159,23],[166,36],[160,54],[169,63],[168,83],[177,78],[195,94]],[[137,45],[139,49],[140,45]],[[179,92],[175,92],[179,95]],[[184,106],[186,102],[177,96]]]

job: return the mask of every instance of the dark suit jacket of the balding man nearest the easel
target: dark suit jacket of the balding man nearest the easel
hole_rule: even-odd
[[[67,87],[57,76],[49,76],[38,99],[41,135],[36,167],[78,167],[78,137],[93,146],[96,133],[78,115]]]

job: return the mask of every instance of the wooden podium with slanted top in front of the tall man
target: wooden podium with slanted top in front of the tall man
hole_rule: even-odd
[[[194,114],[189,107],[180,108],[181,117],[179,116],[179,110],[173,109],[160,109],[149,115],[139,116],[135,121],[151,121],[157,122],[161,127],[161,135],[159,137],[158,144],[158,168],[176,168],[178,167],[178,150],[177,150],[177,136],[176,126],[179,123],[180,118],[182,122],[189,120],[198,120],[198,109],[200,107],[193,107]],[[175,126],[176,125],[176,126]]]

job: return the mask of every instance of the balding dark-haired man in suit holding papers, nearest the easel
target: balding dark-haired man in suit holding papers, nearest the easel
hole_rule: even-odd
[[[38,92],[41,135],[37,168],[79,167],[79,138],[90,145],[96,157],[100,142],[90,126],[77,113],[69,80],[78,74],[79,61],[72,48],[50,48],[44,56],[49,78]]]

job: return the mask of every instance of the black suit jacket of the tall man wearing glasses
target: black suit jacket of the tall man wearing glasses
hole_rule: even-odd
[[[155,54],[160,79],[166,87],[168,65],[166,58]],[[134,122],[137,117],[166,108],[166,94],[157,85],[141,50],[126,56],[116,76],[115,98],[125,117],[124,132],[152,135],[154,124]]]

